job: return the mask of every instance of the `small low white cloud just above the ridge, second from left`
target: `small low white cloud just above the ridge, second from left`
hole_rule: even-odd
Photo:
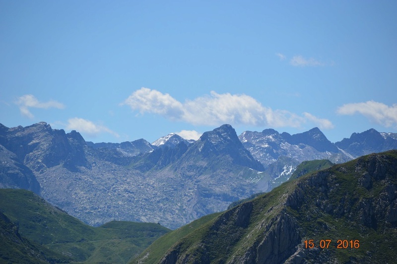
[[[116,137],[120,137],[120,135],[112,130],[108,129],[107,127],[96,125],[93,122],[82,119],[82,118],[70,118],[67,120],[66,125],[67,130],[75,130],[77,132],[86,133],[91,137],[95,137],[97,134],[106,132],[113,134]]]

